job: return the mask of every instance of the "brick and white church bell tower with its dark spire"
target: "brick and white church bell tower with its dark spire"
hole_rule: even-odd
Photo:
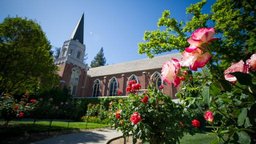
[[[74,97],[81,97],[84,91],[88,66],[83,63],[85,49],[83,13],[69,39],[64,42],[59,57],[53,61],[60,66],[59,88],[66,86]]]

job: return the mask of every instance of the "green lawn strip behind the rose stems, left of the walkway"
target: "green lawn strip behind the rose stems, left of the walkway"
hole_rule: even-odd
[[[4,121],[0,121],[1,124],[4,124]],[[13,125],[12,123],[16,123],[17,125]],[[12,134],[23,134],[25,132],[46,132],[49,128],[49,121],[37,121],[35,124],[34,129],[32,130],[32,121],[10,121],[5,133],[12,133]],[[51,131],[59,131],[59,130],[66,130],[68,126],[68,122],[63,121],[53,121]],[[74,129],[85,129],[86,122],[70,122],[69,123],[69,130]],[[101,127],[108,127],[106,124],[102,124]],[[88,123],[87,129],[92,128],[100,128],[100,124],[95,123]],[[2,131],[3,125],[0,128]]]

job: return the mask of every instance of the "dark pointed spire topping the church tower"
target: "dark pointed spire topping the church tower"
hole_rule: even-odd
[[[80,17],[75,29],[73,30],[69,40],[79,40],[80,43],[84,44],[84,13]]]

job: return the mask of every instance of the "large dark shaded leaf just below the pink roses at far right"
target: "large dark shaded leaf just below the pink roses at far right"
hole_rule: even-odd
[[[229,73],[233,76],[235,76],[238,80],[238,82],[242,85],[248,85],[248,86],[252,86],[252,77],[250,74],[248,73],[242,73],[242,72],[232,72]]]

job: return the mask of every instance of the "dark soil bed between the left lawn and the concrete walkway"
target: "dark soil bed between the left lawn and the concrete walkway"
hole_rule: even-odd
[[[8,124],[9,126],[9,124]],[[109,129],[109,128],[101,128],[103,129]],[[2,144],[30,144],[32,142],[40,141],[43,139],[48,139],[52,137],[56,137],[59,135],[65,135],[65,134],[71,134],[71,133],[77,133],[77,132],[85,132],[85,131],[97,131],[100,130],[99,128],[96,129],[80,129],[80,130],[64,130],[64,131],[51,131],[50,136],[48,136],[48,132],[40,132],[40,133],[32,133],[31,138],[28,139],[29,133],[25,133],[20,136],[7,136],[3,139]],[[0,142],[1,143],[1,142]]]

